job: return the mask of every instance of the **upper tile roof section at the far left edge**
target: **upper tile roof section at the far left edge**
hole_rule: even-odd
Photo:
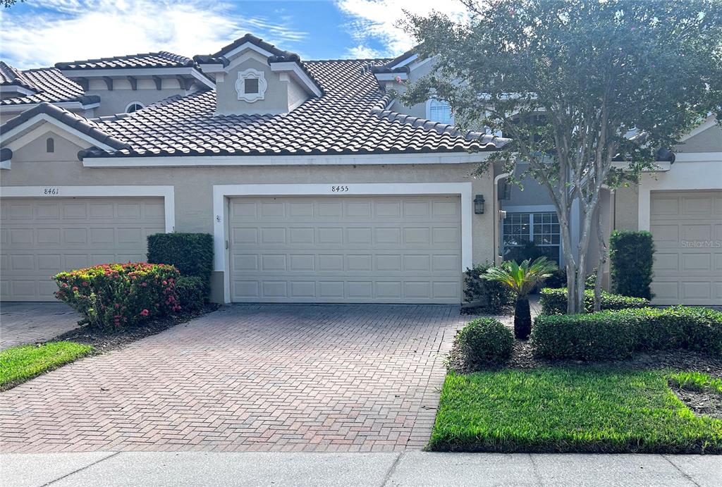
[[[4,69],[6,67],[6,69]],[[18,76],[22,82],[27,83],[34,95],[12,97],[0,100],[0,107],[12,105],[32,105],[40,102],[99,102],[100,98],[92,95],[85,96],[82,87],[55,68],[27,69],[19,71],[4,61],[0,61],[0,79],[2,84],[12,82],[11,76]]]

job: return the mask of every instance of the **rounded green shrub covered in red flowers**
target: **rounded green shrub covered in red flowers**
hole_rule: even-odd
[[[103,264],[53,277],[55,295],[91,325],[119,328],[181,310],[175,283],[181,274],[167,264]]]

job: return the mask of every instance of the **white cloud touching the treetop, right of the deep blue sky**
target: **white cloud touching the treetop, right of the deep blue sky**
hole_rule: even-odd
[[[358,45],[349,49],[349,56],[355,56],[355,52],[398,56],[414,47],[414,40],[399,27],[399,20],[406,18],[404,10],[419,15],[437,10],[452,18],[461,18],[466,12],[464,5],[455,0],[336,0],[336,5],[352,19],[347,27]],[[370,42],[380,43],[385,49],[378,52],[370,48]]]

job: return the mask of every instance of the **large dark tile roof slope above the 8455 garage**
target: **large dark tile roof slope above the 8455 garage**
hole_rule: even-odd
[[[388,110],[391,98],[367,69],[388,60],[304,62],[324,94],[280,115],[214,115],[213,90],[176,95],[122,117],[95,120],[129,149],[84,157],[401,154],[495,150],[508,139]]]

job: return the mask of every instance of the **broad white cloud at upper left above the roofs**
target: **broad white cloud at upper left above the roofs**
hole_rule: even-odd
[[[2,57],[20,69],[149,51],[208,54],[245,32],[293,50],[307,36],[290,27],[290,19],[248,17],[243,4],[211,0],[33,0],[27,5],[28,13],[0,12]]]

